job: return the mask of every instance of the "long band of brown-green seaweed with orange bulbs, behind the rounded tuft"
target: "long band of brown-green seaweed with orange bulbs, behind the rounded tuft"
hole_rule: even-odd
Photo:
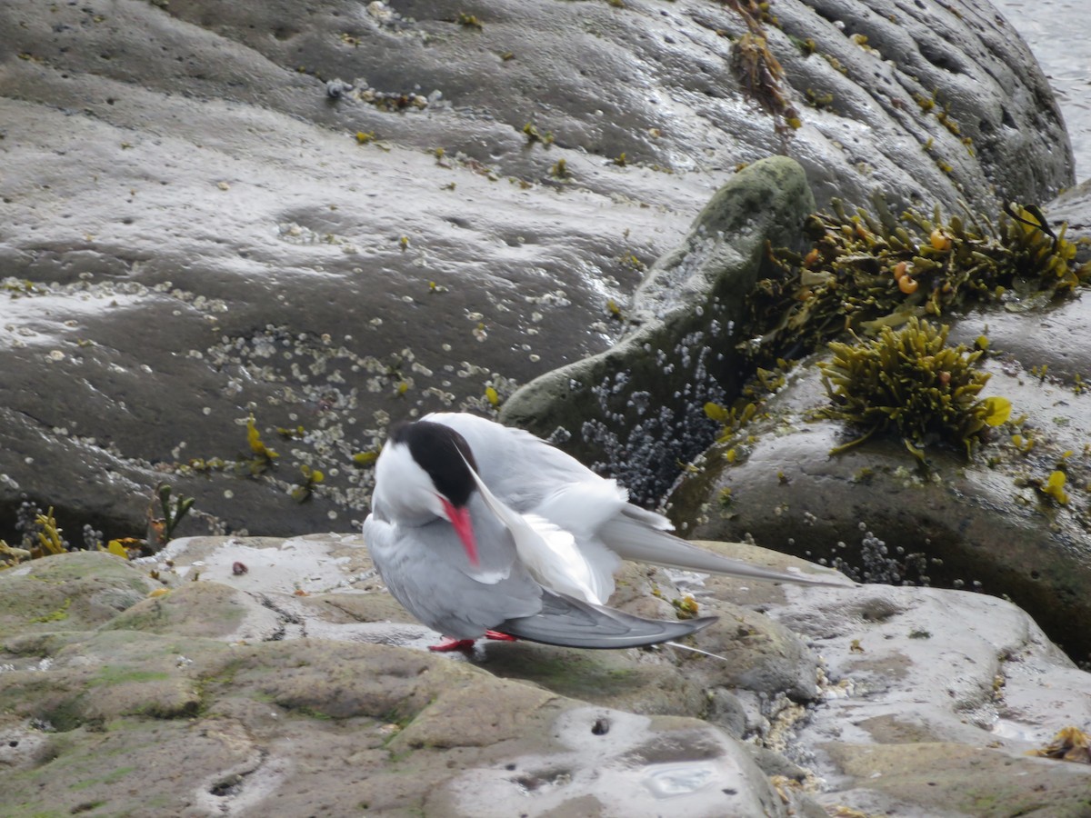
[[[1033,205],[1006,207],[995,224],[969,210],[945,219],[938,207],[931,218],[896,217],[882,202],[875,209],[849,213],[835,201],[832,214],[807,219],[808,252],[772,253],[782,275],[759,281],[748,302],[760,336],[750,345],[756,362],[973,303],[1029,310],[1091,278],[1065,227],[1055,233]]]

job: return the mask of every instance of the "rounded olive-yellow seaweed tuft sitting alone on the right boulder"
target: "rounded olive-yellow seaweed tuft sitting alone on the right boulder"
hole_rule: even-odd
[[[836,452],[892,429],[918,457],[934,441],[963,445],[970,454],[986,426],[1008,419],[1006,399],[978,397],[988,381],[974,366],[982,352],[948,347],[947,329],[911,317],[899,330],[884,326],[872,340],[829,345],[832,360],[818,364],[834,401],[824,414],[863,430]]]

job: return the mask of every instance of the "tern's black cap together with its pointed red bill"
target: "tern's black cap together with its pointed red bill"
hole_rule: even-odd
[[[389,442],[406,446],[416,464],[431,479],[444,516],[455,527],[470,563],[478,565],[477,541],[466,507],[477,489],[470,473],[470,469],[477,471],[477,461],[466,438],[442,423],[418,420],[394,426]]]

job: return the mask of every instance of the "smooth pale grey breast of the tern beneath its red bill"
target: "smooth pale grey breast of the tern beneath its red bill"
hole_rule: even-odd
[[[394,598],[455,639],[476,639],[511,617],[541,610],[541,587],[515,558],[507,530],[473,515],[481,566],[473,568],[446,520],[399,526],[373,513],[363,522],[372,561]],[[506,539],[505,539],[506,538]]]

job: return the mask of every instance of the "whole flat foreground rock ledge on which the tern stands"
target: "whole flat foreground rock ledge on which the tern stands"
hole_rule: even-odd
[[[815,818],[1087,808],[1091,767],[1024,754],[1087,723],[1091,676],[1008,602],[636,566],[621,579],[613,601],[632,611],[664,615],[694,594],[721,617],[698,646],[729,661],[667,646],[430,653],[437,635],[408,621],[356,536],[189,539],[158,561],[65,554],[3,572],[0,598],[48,582],[72,599],[68,617],[3,621],[5,805]],[[95,593],[137,587],[157,590],[109,618],[77,614]],[[281,627],[255,624],[267,613]],[[732,650],[765,670],[741,671]]]

